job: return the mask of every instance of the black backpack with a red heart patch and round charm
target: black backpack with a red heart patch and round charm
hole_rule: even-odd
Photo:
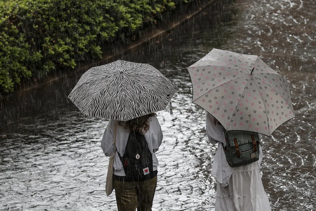
[[[124,154],[119,158],[123,164],[126,181],[144,181],[155,177],[153,157],[147,141],[138,130],[131,130]]]

